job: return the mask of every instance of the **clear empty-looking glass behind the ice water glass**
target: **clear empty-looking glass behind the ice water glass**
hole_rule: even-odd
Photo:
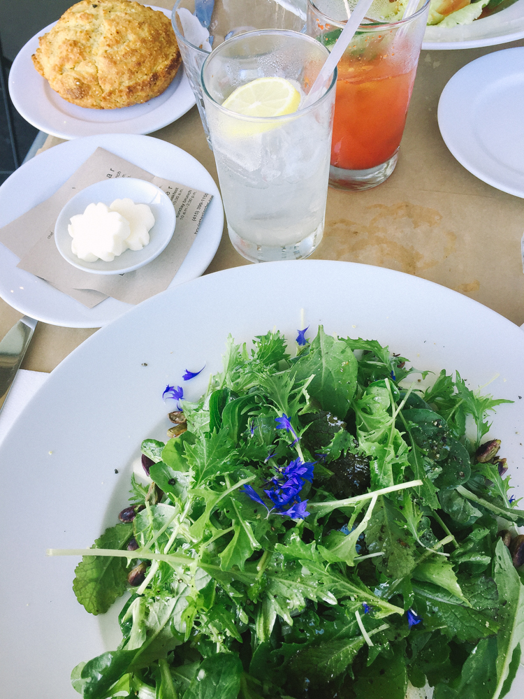
[[[184,36],[178,10],[195,14],[195,0],[177,0],[171,13],[171,23],[184,62],[189,85],[193,89],[205,136],[211,146],[208,122],[202,97],[201,71],[211,48],[217,48],[225,38],[254,29],[291,29],[305,31],[306,0],[215,0],[208,24],[209,45],[194,45]],[[205,31],[203,32],[205,36]]]

